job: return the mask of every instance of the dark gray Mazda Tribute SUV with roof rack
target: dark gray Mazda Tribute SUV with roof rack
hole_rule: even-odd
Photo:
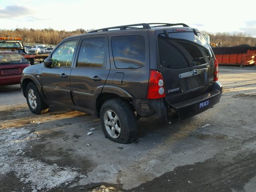
[[[22,91],[35,114],[49,105],[95,114],[107,138],[136,139],[137,120],[173,124],[212,108],[222,85],[204,36],[186,24],[134,24],[68,37],[24,69]]]

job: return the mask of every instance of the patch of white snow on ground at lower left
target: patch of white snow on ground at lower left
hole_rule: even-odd
[[[36,192],[41,188],[51,189],[70,183],[80,175],[76,168],[59,167],[26,157],[23,151],[31,141],[39,139],[38,134],[26,128],[0,130],[0,177],[14,172],[20,182]]]

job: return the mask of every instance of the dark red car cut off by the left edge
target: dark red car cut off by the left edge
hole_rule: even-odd
[[[28,66],[18,52],[0,52],[0,86],[20,84],[22,70]]]

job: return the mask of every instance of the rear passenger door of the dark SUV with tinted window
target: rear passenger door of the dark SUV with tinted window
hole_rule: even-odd
[[[95,95],[102,91],[110,70],[108,40],[106,36],[94,36],[80,42],[78,59],[70,74],[71,92],[77,106],[95,111]]]

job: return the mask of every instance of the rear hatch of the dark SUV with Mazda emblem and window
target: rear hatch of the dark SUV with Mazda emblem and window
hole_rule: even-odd
[[[164,78],[168,102],[186,100],[212,89],[214,54],[202,34],[165,31],[158,35],[158,51],[158,70]]]

